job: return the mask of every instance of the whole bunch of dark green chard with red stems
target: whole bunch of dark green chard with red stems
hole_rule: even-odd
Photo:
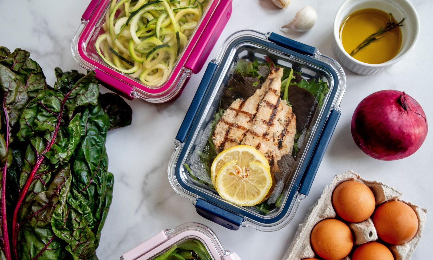
[[[126,126],[132,111],[110,95],[101,107],[94,72],[55,74],[51,88],[29,52],[0,47],[0,259],[97,259],[113,195],[110,117]]]

